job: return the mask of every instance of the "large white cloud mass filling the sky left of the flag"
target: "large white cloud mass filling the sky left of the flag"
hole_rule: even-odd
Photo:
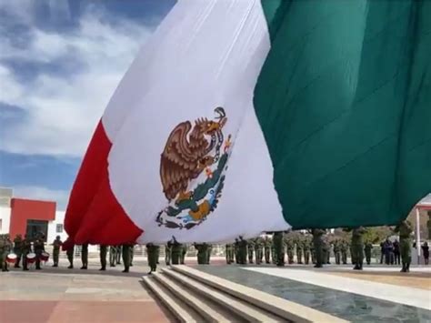
[[[7,8],[31,25],[15,5]],[[104,13],[89,11],[75,32],[67,34],[33,27],[25,49],[15,46],[10,36],[0,38],[0,59],[42,64],[74,56],[85,64],[75,73],[41,73],[25,83],[0,64],[0,101],[20,106],[27,114],[4,133],[0,149],[26,155],[83,155],[110,96],[150,34],[145,26],[121,18],[111,25],[105,18]]]

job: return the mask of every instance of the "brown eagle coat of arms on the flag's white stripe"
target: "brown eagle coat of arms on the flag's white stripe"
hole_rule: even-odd
[[[156,217],[159,226],[195,227],[213,212],[225,182],[231,135],[225,139],[225,109],[214,120],[185,121],[169,135],[160,161],[160,178],[168,207]]]

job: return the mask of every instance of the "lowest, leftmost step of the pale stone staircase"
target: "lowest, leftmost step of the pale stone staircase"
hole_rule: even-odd
[[[155,297],[158,298],[167,309],[174,314],[175,318],[182,323],[200,323],[202,318],[200,318],[195,311],[187,308],[183,302],[179,301],[175,296],[173,296],[168,290],[160,286],[155,278],[150,276],[144,276],[142,278],[143,283],[146,288],[151,290]]]

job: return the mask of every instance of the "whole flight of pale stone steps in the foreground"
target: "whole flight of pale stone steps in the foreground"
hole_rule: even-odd
[[[143,282],[180,322],[345,322],[192,267],[165,267]]]

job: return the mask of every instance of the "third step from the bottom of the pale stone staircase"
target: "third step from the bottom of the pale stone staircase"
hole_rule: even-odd
[[[224,318],[211,318],[210,321],[223,322],[223,321],[246,321],[246,322],[281,322],[286,321],[283,318],[276,317],[272,313],[268,313],[265,309],[256,308],[255,305],[247,303],[239,298],[228,295],[216,288],[211,288],[204,283],[189,278],[186,275],[177,272],[170,268],[162,269],[164,276],[172,278],[170,281],[175,280],[175,283],[181,284],[187,290],[191,290],[195,295],[201,296],[201,303],[206,307],[211,308],[211,303],[217,304],[219,307],[224,308],[225,313],[232,313],[231,315],[225,314]],[[182,289],[184,289],[182,288]],[[202,309],[202,308],[201,308]],[[207,309],[204,309],[207,310]]]

